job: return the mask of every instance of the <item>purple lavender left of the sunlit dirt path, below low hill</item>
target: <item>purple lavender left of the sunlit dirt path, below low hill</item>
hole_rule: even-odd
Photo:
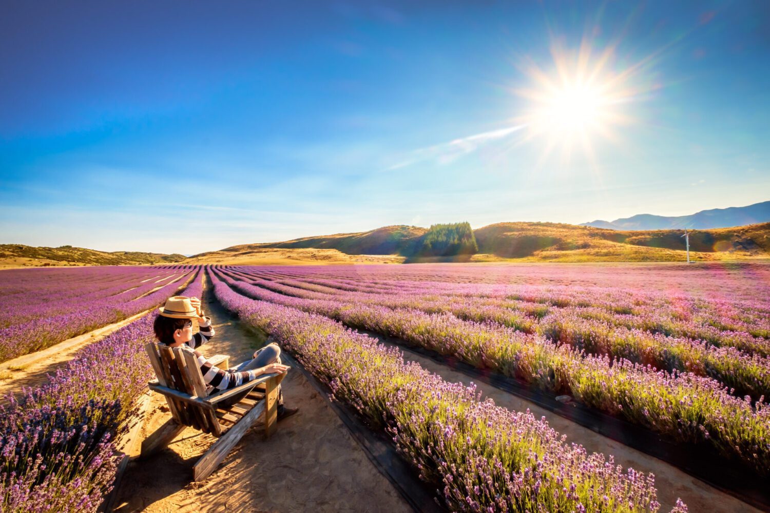
[[[25,271],[34,275],[38,270]],[[26,315],[12,317],[0,328],[0,361],[39,351],[159,305],[191,272],[89,268],[82,271],[82,278],[93,279],[81,281],[57,281],[55,275],[43,281],[49,277],[41,273],[39,281],[25,282],[30,292],[4,299],[4,303],[13,301],[9,308],[12,313]],[[49,288],[48,295],[42,291],[35,294],[39,285]]]

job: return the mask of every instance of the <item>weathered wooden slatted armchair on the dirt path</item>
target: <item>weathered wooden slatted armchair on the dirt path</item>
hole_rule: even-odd
[[[201,481],[216,469],[260,417],[266,438],[276,431],[277,388],[286,373],[259,376],[236,388],[207,395],[206,382],[191,352],[156,342],[146,344],[145,349],[157,377],[156,381],[149,382],[149,388],[166,396],[172,418],[142,441],[140,457],[165,448],[186,426],[210,433],[218,439],[192,467],[193,479]],[[229,367],[228,360],[226,355],[209,358],[213,365],[222,368]],[[236,405],[221,406],[223,399],[244,391],[249,391],[248,395]]]

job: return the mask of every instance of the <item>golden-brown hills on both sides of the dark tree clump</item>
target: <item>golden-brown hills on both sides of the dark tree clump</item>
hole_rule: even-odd
[[[240,265],[363,264],[433,261],[683,261],[678,230],[618,232],[549,222],[507,222],[474,230],[479,252],[415,258],[427,228],[386,226],[370,232],[237,245],[195,255],[185,263]],[[386,256],[377,256],[386,255]],[[770,258],[770,223],[697,230],[690,235],[695,261]]]

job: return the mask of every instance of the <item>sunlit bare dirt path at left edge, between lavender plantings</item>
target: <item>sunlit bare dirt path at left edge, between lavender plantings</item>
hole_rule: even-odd
[[[113,322],[111,325],[96,328],[83,335],[69,338],[42,351],[2,362],[0,364],[0,404],[6,402],[5,398],[8,394],[13,394],[18,398],[22,395],[22,388],[34,388],[44,384],[49,380],[49,374],[55,373],[57,368],[62,368],[68,361],[75,358],[75,353],[86,345],[102,340],[113,331],[136,321],[142,315],[147,315],[147,312],[149,310],[139,312],[122,321]]]

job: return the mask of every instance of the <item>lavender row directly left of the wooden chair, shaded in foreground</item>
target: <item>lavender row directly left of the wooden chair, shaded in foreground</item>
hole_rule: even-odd
[[[182,294],[200,297],[202,290],[200,271]],[[0,511],[99,508],[115,480],[115,441],[152,376],[143,345],[152,340],[155,316],[89,345],[47,385],[0,405]]]

